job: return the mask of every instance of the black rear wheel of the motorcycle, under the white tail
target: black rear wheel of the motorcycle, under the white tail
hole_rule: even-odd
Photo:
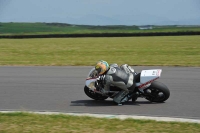
[[[166,85],[161,82],[154,81],[144,90],[147,95],[146,99],[150,102],[164,102],[170,96],[170,91]]]

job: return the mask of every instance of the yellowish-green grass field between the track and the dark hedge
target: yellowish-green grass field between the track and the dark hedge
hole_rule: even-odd
[[[200,66],[200,36],[0,39],[0,65]]]

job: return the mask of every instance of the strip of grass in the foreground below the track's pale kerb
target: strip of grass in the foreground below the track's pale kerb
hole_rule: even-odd
[[[200,124],[0,113],[1,133],[199,133]]]

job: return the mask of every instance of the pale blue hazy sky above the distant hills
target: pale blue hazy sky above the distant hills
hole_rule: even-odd
[[[0,22],[200,25],[200,0],[0,0]]]

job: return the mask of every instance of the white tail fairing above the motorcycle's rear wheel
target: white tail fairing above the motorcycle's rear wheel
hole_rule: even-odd
[[[142,70],[140,75],[140,83],[144,84],[152,80],[156,80],[161,76],[162,69]]]

